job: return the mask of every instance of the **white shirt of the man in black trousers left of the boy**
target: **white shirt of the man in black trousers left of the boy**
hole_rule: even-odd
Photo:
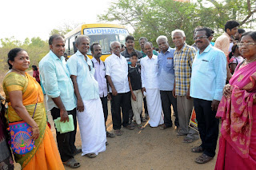
[[[126,58],[120,54],[120,57],[112,53],[105,60],[106,75],[111,77],[114,88],[118,93],[130,92],[128,82],[128,63]],[[110,88],[110,92],[112,89]]]

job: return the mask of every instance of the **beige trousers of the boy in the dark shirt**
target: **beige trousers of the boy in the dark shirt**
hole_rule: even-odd
[[[133,97],[130,97],[130,103],[131,103],[131,107],[133,109],[133,113],[134,113],[134,118],[135,121],[138,125],[140,125],[141,122],[141,113],[142,113],[142,90],[138,89],[138,90],[134,90],[134,95],[136,97],[136,101],[133,100]]]

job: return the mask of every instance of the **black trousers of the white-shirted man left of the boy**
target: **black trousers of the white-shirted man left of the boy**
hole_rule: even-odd
[[[126,127],[129,125],[129,109],[130,109],[130,92],[118,93],[117,96],[113,96],[111,93],[111,110],[112,121],[114,130],[120,129],[122,126]],[[121,108],[122,107],[122,119],[121,119]]]

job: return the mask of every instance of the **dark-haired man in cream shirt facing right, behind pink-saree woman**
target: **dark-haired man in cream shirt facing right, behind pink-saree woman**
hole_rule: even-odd
[[[225,53],[226,61],[229,61],[230,36],[237,34],[239,25],[240,24],[234,20],[227,21],[225,24],[225,33],[219,36],[215,41],[214,47],[221,49]],[[229,81],[232,77],[228,62],[226,62],[226,77],[226,81]]]

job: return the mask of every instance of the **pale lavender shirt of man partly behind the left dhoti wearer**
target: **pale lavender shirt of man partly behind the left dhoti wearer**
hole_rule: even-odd
[[[94,57],[91,59],[94,62],[94,77],[98,81],[98,93],[99,97],[106,97],[107,95],[107,86],[106,86],[106,69],[103,61],[99,59],[98,62]]]

